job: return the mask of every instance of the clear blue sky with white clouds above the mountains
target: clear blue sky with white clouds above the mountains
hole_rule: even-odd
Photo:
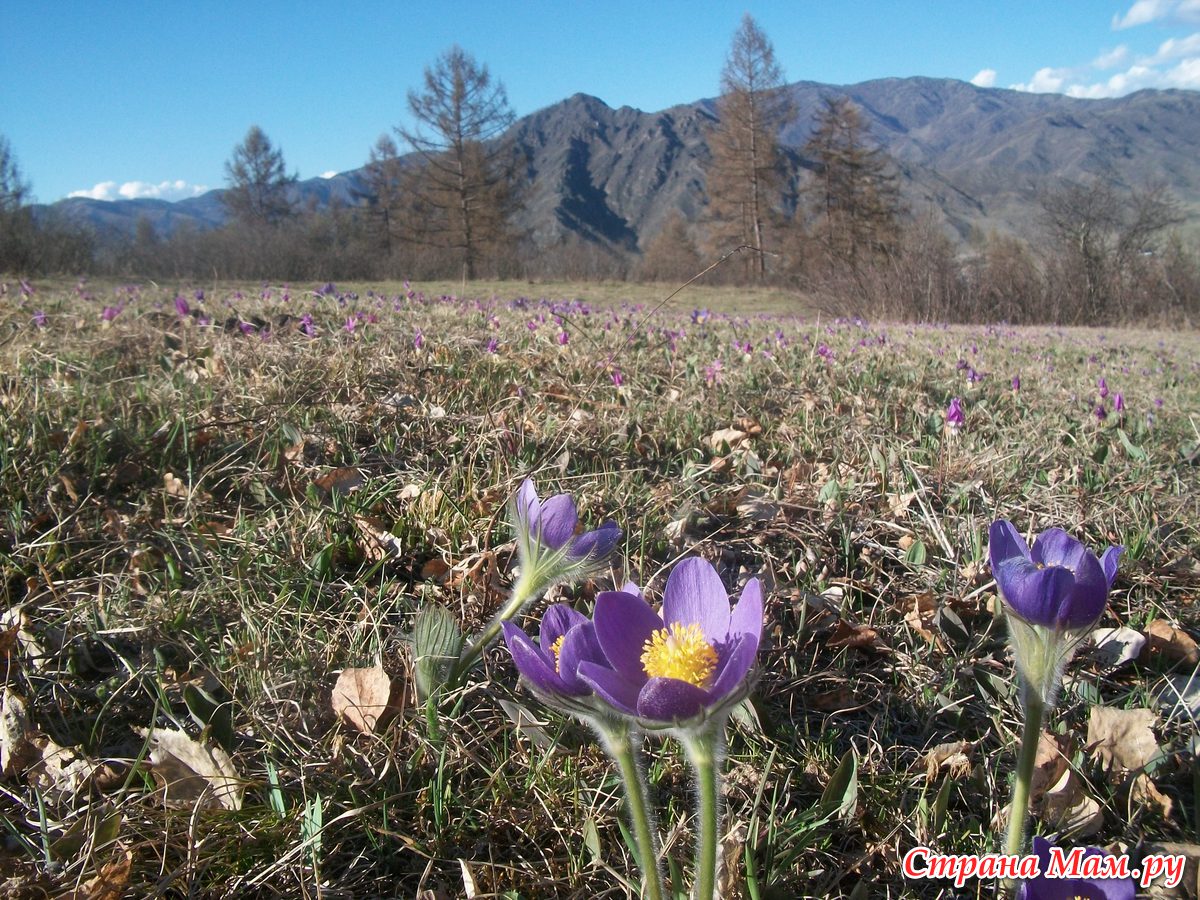
[[[577,91],[656,110],[718,92],[745,12],[788,80],[1200,89],[1200,0],[0,0],[0,134],[43,203],[222,187],[254,124],[312,178],[361,166],[454,43],[517,115]]]

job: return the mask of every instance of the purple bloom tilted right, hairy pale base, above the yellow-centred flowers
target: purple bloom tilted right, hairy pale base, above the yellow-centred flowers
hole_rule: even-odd
[[[594,571],[620,540],[616,522],[605,522],[581,534],[580,516],[570,494],[554,494],[542,502],[528,478],[512,500],[512,527],[517,533],[521,577],[545,586]]]

